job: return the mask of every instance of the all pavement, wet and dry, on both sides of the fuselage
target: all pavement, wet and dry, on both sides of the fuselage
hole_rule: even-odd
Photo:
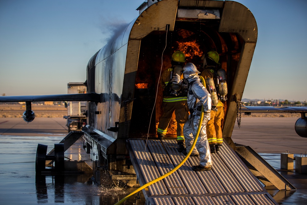
[[[279,204],[305,205],[307,175],[280,169],[280,153],[294,156],[305,153],[307,138],[295,133],[297,118],[242,118],[241,127],[234,127],[235,143],[251,146],[272,167],[278,170],[297,190],[267,190]],[[67,134],[65,119],[35,118],[29,124],[21,118],[0,118],[0,204],[114,204],[136,188],[110,185],[106,178],[97,186],[91,174],[57,176],[35,175],[37,144],[48,145],[49,152]],[[71,160],[87,160],[77,141],[65,152]],[[107,175],[107,173],[106,173]],[[123,204],[144,204],[144,196],[130,197]]]

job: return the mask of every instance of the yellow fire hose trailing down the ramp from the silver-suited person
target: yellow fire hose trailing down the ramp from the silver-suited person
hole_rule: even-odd
[[[199,76],[200,80],[202,81],[203,85],[205,86],[205,80],[202,76]],[[206,86],[205,86],[206,87]],[[196,133],[196,137],[194,139],[194,142],[192,144],[192,147],[190,149],[190,151],[188,152],[188,154],[185,156],[185,159],[182,160],[182,162],[180,164],[178,164],[174,169],[172,169],[171,171],[167,172],[165,175],[160,176],[157,179],[154,179],[146,184],[144,184],[142,187],[139,187],[137,190],[135,190],[134,192],[130,193],[129,195],[127,195],[125,198],[122,198],[119,202],[115,203],[114,205],[119,205],[122,204],[124,201],[126,201],[127,199],[130,198],[130,196],[138,193],[139,191],[141,191],[142,189],[145,189],[146,187],[152,185],[153,183],[156,183],[157,181],[160,181],[161,179],[164,179],[165,177],[173,174],[177,169],[179,169],[184,163],[185,161],[189,158],[189,156],[191,155],[191,153],[193,152],[193,149],[196,145],[196,141],[198,139],[199,133],[200,133],[200,128],[201,128],[201,123],[203,122],[203,118],[204,118],[204,107],[201,106],[201,114],[200,114],[200,120],[199,120],[199,124],[198,124],[198,129],[197,129],[197,133]]]

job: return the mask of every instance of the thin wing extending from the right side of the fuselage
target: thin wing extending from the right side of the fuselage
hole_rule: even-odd
[[[292,112],[307,113],[307,107],[241,106],[242,112]]]

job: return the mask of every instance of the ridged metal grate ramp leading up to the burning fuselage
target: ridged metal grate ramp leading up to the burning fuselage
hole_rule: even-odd
[[[171,171],[185,158],[177,151],[176,140],[148,140],[146,145],[146,140],[131,139],[128,147],[141,186]],[[200,158],[189,157],[173,174],[143,189],[146,204],[278,204],[227,144],[211,156],[210,171],[193,171]]]

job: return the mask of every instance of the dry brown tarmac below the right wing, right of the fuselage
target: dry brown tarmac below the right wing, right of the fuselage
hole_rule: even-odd
[[[235,123],[231,139],[248,145],[258,153],[300,154],[307,151],[307,138],[295,132],[296,117],[242,117]]]

